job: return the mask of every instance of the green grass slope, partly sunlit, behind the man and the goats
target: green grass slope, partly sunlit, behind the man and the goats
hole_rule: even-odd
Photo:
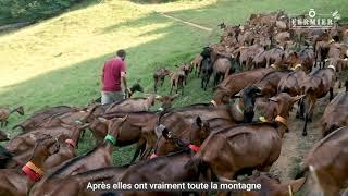
[[[9,127],[44,106],[87,105],[99,96],[103,62],[120,48],[128,53],[129,84],[140,78],[145,91],[152,93],[152,72],[164,64],[174,70],[174,65],[189,62],[203,46],[216,42],[221,33],[219,23],[243,24],[256,12],[286,10],[296,14],[310,8],[323,13],[338,10],[345,16],[348,3],[346,0],[182,0],[140,4],[105,0],[78,5],[54,19],[0,36],[0,105],[25,107],[26,115],[12,115]],[[154,10],[211,27],[213,32],[172,21]],[[185,95],[175,106],[211,99],[212,91],[202,91],[199,79],[191,75],[188,81]],[[167,93],[166,81],[159,94]],[[92,147],[88,140],[84,139],[80,152]],[[117,150],[116,163],[127,161],[132,150],[132,147]]]

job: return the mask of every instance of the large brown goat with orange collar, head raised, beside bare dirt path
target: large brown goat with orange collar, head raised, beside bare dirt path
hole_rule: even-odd
[[[207,162],[221,180],[232,180],[243,169],[268,171],[281,155],[289,111],[299,98],[288,94],[272,97],[278,103],[275,122],[241,124],[212,133],[195,158]]]

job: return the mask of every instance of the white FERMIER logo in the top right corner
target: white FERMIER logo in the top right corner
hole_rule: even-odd
[[[332,28],[334,24],[340,20],[337,10],[330,14],[316,13],[314,9],[310,9],[307,15],[293,16],[289,19],[290,28]]]

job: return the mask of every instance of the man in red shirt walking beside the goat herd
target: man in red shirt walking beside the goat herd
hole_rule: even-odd
[[[124,62],[126,52],[119,50],[116,57],[104,63],[101,74],[101,105],[108,105],[125,99],[125,94],[122,90],[121,84],[128,93],[126,79],[126,64]]]

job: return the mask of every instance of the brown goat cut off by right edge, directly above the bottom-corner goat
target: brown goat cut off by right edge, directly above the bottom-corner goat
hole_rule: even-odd
[[[330,133],[341,126],[348,126],[348,93],[338,94],[325,108],[321,119],[322,135],[325,137]]]

